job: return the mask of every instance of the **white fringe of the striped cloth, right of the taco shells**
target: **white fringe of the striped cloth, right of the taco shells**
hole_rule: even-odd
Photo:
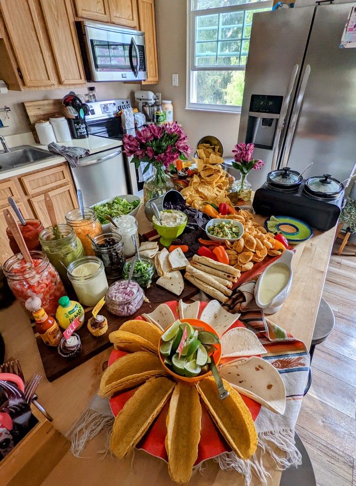
[[[271,443],[275,444],[285,454],[278,454],[273,451]],[[251,483],[252,473],[262,484],[267,485],[267,479],[271,478],[271,475],[263,466],[263,455],[265,452],[271,454],[279,470],[287,469],[289,466],[297,467],[302,464],[302,454],[295,446],[294,430],[291,429],[258,434],[257,451],[247,461],[237,457],[235,452],[223,452],[219,456],[214,457],[214,461],[219,463],[220,469],[235,469],[245,476],[246,486],[249,486]]]

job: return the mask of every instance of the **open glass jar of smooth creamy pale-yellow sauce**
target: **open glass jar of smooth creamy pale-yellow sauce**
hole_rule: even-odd
[[[81,304],[95,306],[106,294],[108,283],[104,264],[98,257],[83,257],[72,261],[68,265],[67,274]]]

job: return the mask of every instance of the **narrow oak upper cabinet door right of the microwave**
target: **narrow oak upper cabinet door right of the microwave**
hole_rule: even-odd
[[[142,84],[158,83],[158,62],[156,42],[156,21],[154,0],[138,0],[140,30],[145,33],[147,81]]]

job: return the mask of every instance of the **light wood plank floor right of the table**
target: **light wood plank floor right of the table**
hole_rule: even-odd
[[[315,348],[312,385],[296,427],[318,486],[356,486],[356,247],[346,246],[341,256],[338,248],[323,292],[335,328]]]

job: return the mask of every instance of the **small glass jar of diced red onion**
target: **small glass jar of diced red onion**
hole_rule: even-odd
[[[144,293],[137,282],[118,280],[110,285],[105,301],[109,312],[116,315],[132,315],[143,304]]]

